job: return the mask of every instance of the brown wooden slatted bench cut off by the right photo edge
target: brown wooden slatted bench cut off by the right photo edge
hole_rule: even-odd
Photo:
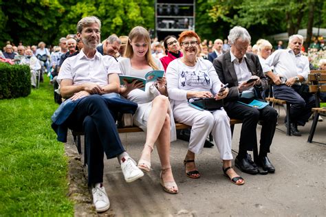
[[[320,108],[320,93],[326,93],[326,70],[312,70],[308,75],[309,92],[314,93],[316,96],[316,108],[312,108],[314,113],[314,121],[312,122],[312,128],[310,129],[308,142],[312,143],[312,138],[316,130],[318,123],[318,117],[320,114],[326,114],[326,108]]]

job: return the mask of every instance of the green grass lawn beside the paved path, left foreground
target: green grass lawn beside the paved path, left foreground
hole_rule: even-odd
[[[67,157],[51,115],[58,107],[45,78],[26,98],[0,100],[0,216],[73,216]]]

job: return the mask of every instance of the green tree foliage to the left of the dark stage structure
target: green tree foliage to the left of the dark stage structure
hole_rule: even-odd
[[[132,27],[154,26],[153,0],[0,0],[0,42],[33,45],[58,44],[67,34],[76,34],[83,16],[98,16],[102,38],[126,35]]]

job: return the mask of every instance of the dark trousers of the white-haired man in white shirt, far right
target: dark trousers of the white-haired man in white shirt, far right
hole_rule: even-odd
[[[290,120],[294,124],[305,126],[310,115],[312,115],[312,108],[315,106],[315,97],[309,93],[306,84],[293,85],[287,87],[286,85],[274,85],[274,97],[290,102]]]

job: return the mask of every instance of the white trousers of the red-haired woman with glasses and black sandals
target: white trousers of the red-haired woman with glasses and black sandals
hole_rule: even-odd
[[[188,103],[175,104],[175,121],[192,126],[188,149],[195,154],[203,150],[206,137],[212,132],[213,139],[222,160],[233,159],[230,118],[224,109],[217,111],[199,111]]]

